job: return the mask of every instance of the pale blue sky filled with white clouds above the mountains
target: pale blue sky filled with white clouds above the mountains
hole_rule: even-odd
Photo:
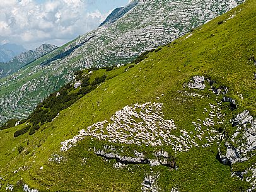
[[[0,45],[61,46],[97,28],[129,0],[1,0]]]

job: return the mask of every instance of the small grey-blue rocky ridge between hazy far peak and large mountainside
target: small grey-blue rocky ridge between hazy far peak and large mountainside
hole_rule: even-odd
[[[55,45],[43,44],[40,47],[35,48],[35,50],[28,50],[27,52],[17,55],[9,62],[0,63],[0,77],[5,77],[17,72],[21,67],[24,67],[45,54],[48,54],[55,48],[57,48]]]

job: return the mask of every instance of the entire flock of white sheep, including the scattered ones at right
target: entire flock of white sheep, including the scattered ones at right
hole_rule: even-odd
[[[146,145],[146,147],[172,145],[175,153],[188,152],[192,147],[199,147],[199,143],[202,147],[209,147],[212,142],[220,138],[214,127],[216,123],[223,123],[223,115],[217,110],[220,104],[209,104],[212,109],[209,118],[205,118],[200,123],[194,122],[194,132],[180,130],[179,136],[171,134],[171,131],[177,128],[173,120],[164,119],[162,103],[125,106],[111,116],[110,120],[97,122],[80,130],[79,135],[61,142],[61,151],[70,149],[86,137],[116,144]],[[168,153],[163,151],[160,155],[167,157]]]

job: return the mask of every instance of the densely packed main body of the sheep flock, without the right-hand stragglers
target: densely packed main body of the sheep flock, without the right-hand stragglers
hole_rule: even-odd
[[[71,148],[86,136],[120,144],[162,146],[163,138],[167,142],[170,130],[176,129],[173,120],[163,118],[162,106],[162,103],[125,106],[110,118],[110,122],[105,120],[95,123],[81,130],[74,138],[61,142],[61,150]]]

